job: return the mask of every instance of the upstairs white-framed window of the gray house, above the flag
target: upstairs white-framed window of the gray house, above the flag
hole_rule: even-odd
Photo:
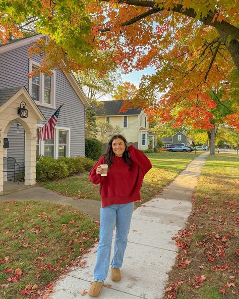
[[[30,60],[29,71],[39,69],[40,65]],[[38,105],[55,108],[55,71],[37,74],[29,79],[29,93]]]

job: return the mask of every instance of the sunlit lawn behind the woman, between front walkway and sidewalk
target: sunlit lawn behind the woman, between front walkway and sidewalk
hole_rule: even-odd
[[[146,174],[141,189],[141,205],[150,200],[154,195],[162,190],[162,187],[170,183],[175,176],[186,168],[188,163],[202,153],[152,153],[147,154],[153,168]],[[41,182],[40,185],[74,198],[88,198],[101,200],[99,195],[99,185],[89,182],[89,173],[79,176],[61,179],[57,181]]]

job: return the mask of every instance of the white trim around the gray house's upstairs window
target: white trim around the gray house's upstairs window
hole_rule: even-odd
[[[40,67],[40,64],[38,62],[35,62],[31,59],[29,59],[29,73],[32,72],[32,66]],[[34,101],[37,106],[43,106],[43,107],[49,107],[49,108],[55,108],[55,71],[52,70],[53,75],[51,76],[51,104],[44,103],[44,85],[42,82],[44,82],[44,74],[40,73],[40,101]],[[29,78],[28,83],[28,92],[31,95],[32,94],[32,78]]]

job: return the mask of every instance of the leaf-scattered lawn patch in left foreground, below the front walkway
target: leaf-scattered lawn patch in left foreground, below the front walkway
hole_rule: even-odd
[[[2,299],[39,297],[98,237],[98,225],[70,206],[13,201],[0,209]]]

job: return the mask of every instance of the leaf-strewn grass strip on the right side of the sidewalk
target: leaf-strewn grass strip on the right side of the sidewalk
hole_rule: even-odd
[[[193,213],[175,239],[182,250],[164,299],[239,297],[238,215],[239,157],[209,156],[194,194]]]

